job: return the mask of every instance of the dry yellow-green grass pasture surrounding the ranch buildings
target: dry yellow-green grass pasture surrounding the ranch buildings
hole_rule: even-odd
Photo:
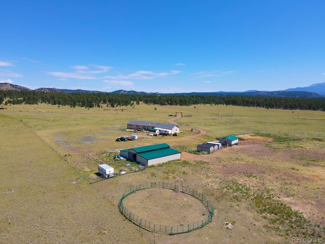
[[[169,116],[180,111],[183,117]],[[138,140],[116,142],[116,137],[134,134],[125,130],[129,120],[172,121],[181,133],[149,137],[141,132]],[[89,110],[7,105],[0,111],[0,243],[325,240],[324,123],[325,113],[320,111],[210,104]],[[137,165],[126,167],[125,161],[113,159],[118,149],[164,142],[193,150],[199,143],[228,135],[256,144],[210,155],[183,151],[181,160],[137,172],[133,172]],[[89,184],[97,179],[102,163],[128,174]],[[154,181],[183,184],[203,193],[214,205],[213,221],[173,236],[150,233],[127,221],[117,207],[123,192]],[[173,195],[170,190],[150,189],[128,196],[125,203],[157,224],[177,225],[206,214],[200,202],[182,203],[185,197]],[[223,222],[234,228],[226,229]]]

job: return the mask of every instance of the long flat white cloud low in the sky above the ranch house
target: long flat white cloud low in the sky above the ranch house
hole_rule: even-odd
[[[178,71],[178,70],[172,70],[170,72],[161,72],[161,73],[139,70],[139,71],[136,71],[136,72],[134,72],[132,74],[128,74],[128,75],[105,76],[104,78],[113,79],[113,80],[120,80],[120,79],[149,80],[149,79],[167,77],[167,76],[171,76],[171,75],[175,75],[175,74],[179,74],[179,73],[181,73],[181,71]]]

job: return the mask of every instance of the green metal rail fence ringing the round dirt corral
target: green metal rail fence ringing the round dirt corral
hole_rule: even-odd
[[[210,214],[205,219],[196,221],[196,222],[193,222],[190,224],[166,226],[166,225],[155,224],[148,220],[140,218],[139,216],[133,214],[133,212],[131,212],[129,209],[127,209],[123,205],[123,199],[136,191],[140,191],[140,190],[148,189],[148,188],[165,188],[165,189],[170,189],[170,190],[177,191],[177,192],[179,191],[179,187],[176,184],[171,184],[168,182],[150,182],[147,184],[141,184],[141,185],[134,186],[134,187],[128,189],[127,191],[125,191],[119,201],[119,204],[118,204],[119,209],[120,209],[121,213],[129,221],[133,222],[137,226],[139,226],[145,230],[148,230],[150,232],[153,232],[153,233],[175,235],[175,234],[187,233],[192,230],[200,229],[212,221],[214,208],[213,208],[211,202],[202,193],[200,193],[196,190],[190,189],[189,187],[183,187],[183,186],[182,186],[181,192],[189,194],[189,195],[199,199],[207,206],[207,208],[210,211]]]

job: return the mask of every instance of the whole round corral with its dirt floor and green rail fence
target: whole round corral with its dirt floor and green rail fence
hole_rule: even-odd
[[[213,217],[213,206],[203,194],[183,186],[179,191],[167,182],[135,186],[124,192],[119,206],[129,221],[161,234],[196,230]]]

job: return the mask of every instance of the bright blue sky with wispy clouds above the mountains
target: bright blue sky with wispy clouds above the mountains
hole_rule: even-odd
[[[325,1],[0,4],[0,82],[113,92],[243,92],[325,82]]]

